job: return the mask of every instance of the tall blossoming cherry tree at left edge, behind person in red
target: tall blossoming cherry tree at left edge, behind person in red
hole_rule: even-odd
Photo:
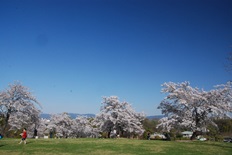
[[[7,132],[8,125],[22,128],[38,121],[41,104],[27,87],[21,83],[10,84],[9,88],[0,92],[0,113],[4,115],[2,133]]]

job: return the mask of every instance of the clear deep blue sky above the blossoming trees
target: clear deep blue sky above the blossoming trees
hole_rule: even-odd
[[[161,114],[164,82],[231,80],[231,0],[0,0],[0,89],[21,81],[46,113],[115,95]]]

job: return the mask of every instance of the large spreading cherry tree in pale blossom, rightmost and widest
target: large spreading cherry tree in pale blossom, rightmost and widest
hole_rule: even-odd
[[[160,120],[157,127],[169,131],[174,126],[182,126],[194,131],[206,131],[207,124],[216,126],[213,118],[230,117],[232,111],[232,83],[218,85],[210,91],[192,88],[189,82],[164,83],[162,92],[167,97],[160,103],[159,109],[167,117]]]

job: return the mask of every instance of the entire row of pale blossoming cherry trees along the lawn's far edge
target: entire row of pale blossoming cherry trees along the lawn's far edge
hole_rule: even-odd
[[[103,97],[99,114],[95,118],[78,116],[72,119],[67,113],[40,118],[41,104],[27,87],[15,82],[0,92],[0,133],[9,136],[22,128],[33,136],[53,137],[146,137],[147,133],[183,130],[210,134],[230,133],[232,123],[232,83],[216,86],[210,91],[190,86],[189,82],[164,83],[162,92],[167,96],[159,109],[166,116],[159,121],[148,120],[144,113],[136,112],[128,102],[117,96]]]

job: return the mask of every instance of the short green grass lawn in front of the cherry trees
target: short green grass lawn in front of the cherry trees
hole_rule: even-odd
[[[132,139],[1,139],[0,155],[231,155],[232,143]]]

